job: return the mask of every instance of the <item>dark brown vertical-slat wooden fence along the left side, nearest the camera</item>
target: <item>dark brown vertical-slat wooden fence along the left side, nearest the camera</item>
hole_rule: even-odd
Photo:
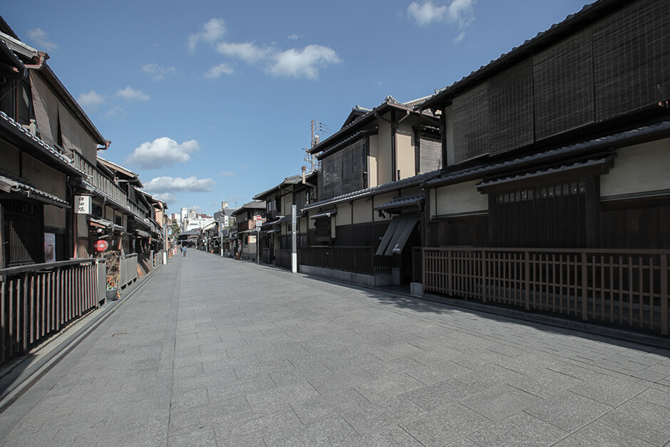
[[[96,309],[105,297],[105,260],[0,269],[0,364]]]

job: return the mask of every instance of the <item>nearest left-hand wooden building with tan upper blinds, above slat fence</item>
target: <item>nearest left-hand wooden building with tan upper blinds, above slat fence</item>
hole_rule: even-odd
[[[95,164],[109,142],[47,59],[0,19],[0,268],[88,256],[77,159]]]

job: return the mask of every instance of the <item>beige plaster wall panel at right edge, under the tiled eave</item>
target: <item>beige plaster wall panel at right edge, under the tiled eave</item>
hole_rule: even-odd
[[[670,138],[617,150],[600,197],[670,190]]]

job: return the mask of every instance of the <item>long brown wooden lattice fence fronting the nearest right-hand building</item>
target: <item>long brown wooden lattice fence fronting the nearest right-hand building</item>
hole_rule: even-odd
[[[664,250],[424,247],[423,290],[669,334]]]

